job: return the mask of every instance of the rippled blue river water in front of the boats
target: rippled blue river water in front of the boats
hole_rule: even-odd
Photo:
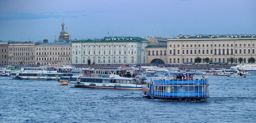
[[[0,77],[0,122],[256,122],[256,71],[250,74],[209,76],[210,98],[196,102]]]

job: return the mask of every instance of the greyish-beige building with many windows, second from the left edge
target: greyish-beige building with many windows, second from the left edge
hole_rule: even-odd
[[[9,44],[8,49],[8,62],[10,65],[35,65],[34,43]]]

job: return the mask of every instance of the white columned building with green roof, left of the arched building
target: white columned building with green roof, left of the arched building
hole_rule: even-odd
[[[140,37],[74,40],[72,64],[145,64],[148,44]]]

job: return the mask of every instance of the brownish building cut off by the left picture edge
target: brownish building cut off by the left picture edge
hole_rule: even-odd
[[[8,42],[0,42],[0,65],[8,64]]]

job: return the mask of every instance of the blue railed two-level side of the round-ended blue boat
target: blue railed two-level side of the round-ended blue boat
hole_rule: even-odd
[[[208,79],[154,80],[154,96],[173,98],[204,98],[209,96]]]

